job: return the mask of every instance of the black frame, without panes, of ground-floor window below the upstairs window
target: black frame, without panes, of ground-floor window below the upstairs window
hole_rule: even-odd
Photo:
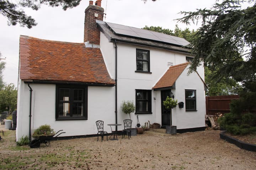
[[[147,92],[148,93],[148,100],[146,99],[138,99],[137,92]],[[144,90],[144,89],[135,89],[135,114],[152,114],[152,90]],[[137,111],[137,102],[139,101],[148,101],[148,111]]]

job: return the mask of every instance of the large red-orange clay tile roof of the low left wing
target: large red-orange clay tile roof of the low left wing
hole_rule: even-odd
[[[112,84],[100,49],[20,36],[20,79]]]

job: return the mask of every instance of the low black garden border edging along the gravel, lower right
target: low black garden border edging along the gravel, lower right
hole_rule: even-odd
[[[220,132],[220,138],[221,139],[223,139],[223,140],[225,140],[229,143],[232,143],[232,144],[236,145],[237,147],[239,147],[241,149],[256,152],[256,145],[251,144],[251,143],[242,142],[242,141],[240,141],[240,140],[238,140],[234,137],[226,135],[225,132],[226,131],[221,131]]]

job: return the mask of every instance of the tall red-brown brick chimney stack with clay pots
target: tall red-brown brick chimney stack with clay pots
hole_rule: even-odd
[[[95,5],[93,1],[89,1],[89,6],[85,9],[84,42],[100,45],[100,30],[95,19],[103,21],[103,12],[101,0],[96,0]]]

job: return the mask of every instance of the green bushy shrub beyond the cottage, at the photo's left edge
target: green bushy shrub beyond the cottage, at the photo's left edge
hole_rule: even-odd
[[[0,90],[0,111],[6,111],[6,108],[9,115],[17,108],[17,89],[12,83]]]

